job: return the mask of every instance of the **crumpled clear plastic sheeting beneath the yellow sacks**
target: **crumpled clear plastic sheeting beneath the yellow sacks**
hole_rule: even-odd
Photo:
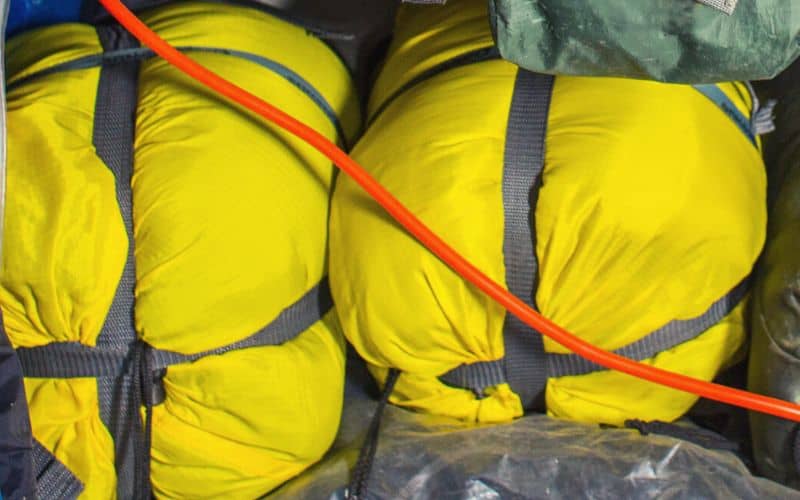
[[[343,499],[376,403],[350,386],[331,453],[273,498]],[[754,477],[728,452],[664,436],[534,415],[466,426],[387,408],[372,469],[374,499],[800,498]]]

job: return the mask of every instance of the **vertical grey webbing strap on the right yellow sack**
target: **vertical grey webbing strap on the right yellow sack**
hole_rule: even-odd
[[[535,308],[539,275],[536,258],[536,203],[544,169],[545,135],[554,78],[519,69],[511,97],[503,159],[503,258],[506,286]],[[544,343],[539,332],[506,313],[503,325],[508,384],[526,409],[542,409],[547,383]]]

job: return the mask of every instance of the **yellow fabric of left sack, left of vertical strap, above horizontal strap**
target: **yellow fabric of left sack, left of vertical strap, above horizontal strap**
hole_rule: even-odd
[[[98,50],[93,33],[68,28],[71,45],[81,47],[81,55]],[[9,43],[9,67],[14,67],[15,54],[36,61],[31,53],[46,52],[35,43],[21,50],[17,41]],[[0,297],[5,327],[16,346],[53,341],[94,345],[125,263],[127,238],[114,175],[91,141],[99,74],[93,68],[43,77],[8,96],[4,237],[9,250],[3,257]],[[9,76],[13,82],[15,75]]]

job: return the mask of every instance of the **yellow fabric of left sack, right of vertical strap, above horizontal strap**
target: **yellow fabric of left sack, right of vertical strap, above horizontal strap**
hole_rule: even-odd
[[[190,4],[142,20],[178,46],[244,50],[291,68],[334,109],[351,113],[346,123],[355,133],[349,76],[322,42],[274,18],[248,15],[255,11],[226,12],[219,5]],[[190,55],[335,137],[319,107],[283,77],[223,54]],[[323,275],[325,261],[317,256],[325,253],[322,214],[331,163],[287,132],[223,104],[164,60],[143,64],[139,92],[133,178],[133,205],[141,214],[134,218],[137,326],[148,343],[186,354],[240,340]],[[164,167],[176,161],[186,167]],[[229,175],[233,166],[235,176]]]

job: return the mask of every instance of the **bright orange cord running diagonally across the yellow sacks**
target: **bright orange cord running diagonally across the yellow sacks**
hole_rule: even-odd
[[[648,366],[595,347],[567,332],[528,307],[524,302],[510,294],[502,286],[492,281],[478,268],[473,266],[417,219],[414,214],[334,143],[283,111],[264,102],[253,94],[181,54],[145,26],[144,23],[131,13],[119,0],[99,0],[99,2],[108,9],[122,26],[169,63],[219,94],[258,113],[265,119],[296,135],[330,158],[335,165],[361,185],[361,187],[380,203],[397,222],[405,227],[406,230],[414,235],[414,237],[431,252],[452,267],[464,279],[483,290],[484,293],[489,295],[531,328],[541,332],[543,335],[547,335],[570,351],[605,368],[624,372],[634,377],[649,380],[708,399],[800,422],[800,405]]]

